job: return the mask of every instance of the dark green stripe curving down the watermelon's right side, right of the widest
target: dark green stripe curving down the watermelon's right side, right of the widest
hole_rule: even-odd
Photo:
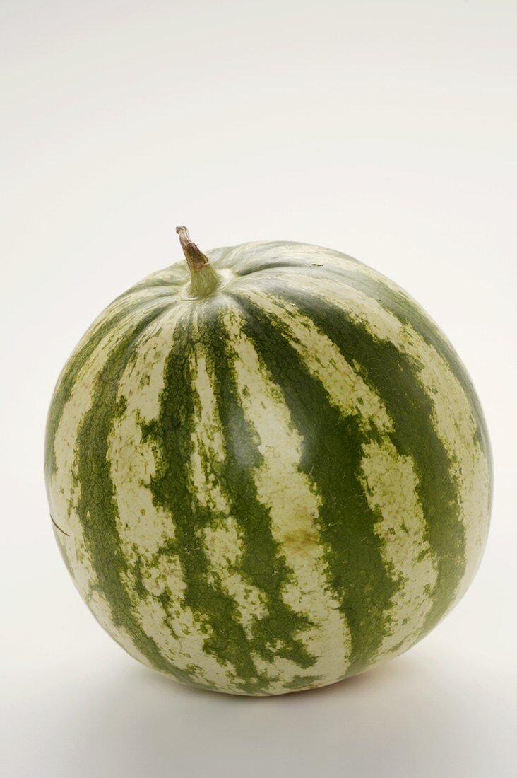
[[[295,286],[267,284],[295,302],[349,363],[357,363],[363,379],[383,401],[393,420],[390,438],[399,454],[412,457],[418,478],[417,493],[427,524],[427,541],[438,558],[438,579],[430,592],[433,605],[422,629],[424,635],[454,601],[465,566],[465,530],[459,517],[459,492],[449,456],[433,423],[432,398],[421,385],[418,365],[393,343],[372,336],[346,310],[297,292]],[[278,324],[281,327],[281,324]],[[351,579],[352,580],[352,579]],[[419,638],[421,637],[419,636]]]

